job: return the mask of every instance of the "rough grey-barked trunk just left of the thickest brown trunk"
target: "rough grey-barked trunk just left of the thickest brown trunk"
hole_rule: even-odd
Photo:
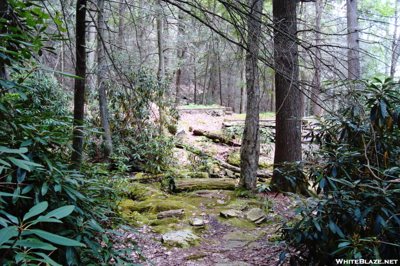
[[[239,187],[254,191],[259,159],[258,51],[261,39],[261,12],[264,0],[249,0],[247,17],[246,92],[247,112],[240,148]]]

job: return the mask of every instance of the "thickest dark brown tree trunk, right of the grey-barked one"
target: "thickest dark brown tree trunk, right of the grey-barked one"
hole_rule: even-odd
[[[298,86],[296,0],[272,0],[276,95],[276,137],[273,166],[301,161],[301,95]],[[274,171],[271,184],[289,191],[288,181]]]

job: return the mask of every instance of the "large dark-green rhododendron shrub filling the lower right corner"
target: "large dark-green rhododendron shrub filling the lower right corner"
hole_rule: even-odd
[[[308,179],[319,196],[301,200],[301,220],[282,229],[295,247],[291,265],[400,254],[399,96],[390,79],[364,83],[358,106],[320,120],[310,133],[321,160],[308,166]]]

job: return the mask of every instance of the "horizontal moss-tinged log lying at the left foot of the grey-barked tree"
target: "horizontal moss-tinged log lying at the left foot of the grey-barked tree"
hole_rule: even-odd
[[[194,190],[234,190],[231,178],[182,178],[175,181],[173,192]]]

